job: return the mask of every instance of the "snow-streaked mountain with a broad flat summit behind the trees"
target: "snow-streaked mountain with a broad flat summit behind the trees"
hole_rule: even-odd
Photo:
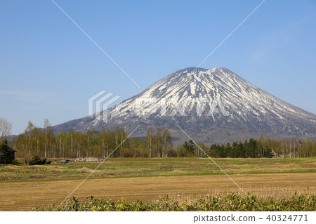
[[[107,120],[105,123],[105,114]],[[55,126],[54,129],[114,129],[145,136],[162,125],[173,136],[204,143],[222,143],[267,136],[316,136],[316,115],[279,100],[225,67],[188,67],[169,74],[145,91],[105,112]]]

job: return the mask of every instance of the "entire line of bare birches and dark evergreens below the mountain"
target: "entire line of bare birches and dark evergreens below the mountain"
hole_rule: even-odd
[[[48,119],[42,128],[29,121],[25,132],[13,139],[16,157],[31,159],[34,157],[312,157],[316,155],[316,141],[296,138],[274,140],[261,137],[244,142],[213,144],[206,147],[189,140],[183,145],[173,147],[171,134],[166,126],[147,130],[145,138],[127,138],[124,129],[63,131],[54,133]],[[126,139],[126,140],[125,140]],[[204,152],[206,153],[204,153]]]

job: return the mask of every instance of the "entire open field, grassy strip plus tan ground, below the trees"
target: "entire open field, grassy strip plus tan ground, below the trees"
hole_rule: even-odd
[[[244,191],[259,197],[287,197],[294,192],[315,194],[315,158],[218,159],[216,162]],[[57,205],[96,166],[98,163],[0,166],[0,211]],[[103,164],[96,176],[86,180],[73,196],[152,202],[166,195],[183,199],[240,193],[216,168],[206,159],[114,159]],[[110,172],[112,175],[108,175]],[[10,173],[13,178],[8,178]]]

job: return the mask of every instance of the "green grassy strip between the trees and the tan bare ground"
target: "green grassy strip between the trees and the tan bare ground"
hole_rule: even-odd
[[[215,159],[228,174],[237,173],[314,173],[316,158]],[[22,160],[20,161],[22,162]],[[35,166],[0,165],[0,180],[65,180],[86,178],[99,163],[46,164]],[[112,158],[91,178],[136,176],[192,176],[223,174],[210,159],[201,158]]]

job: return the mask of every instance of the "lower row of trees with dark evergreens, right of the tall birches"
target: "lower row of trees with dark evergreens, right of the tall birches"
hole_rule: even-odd
[[[199,145],[199,147],[197,147]],[[203,143],[185,142],[177,147],[178,157],[231,157],[231,158],[261,158],[261,157],[314,157],[316,156],[316,141],[296,138],[275,140],[261,137],[239,143],[225,145],[213,144],[206,147]],[[204,153],[204,152],[206,153]]]

